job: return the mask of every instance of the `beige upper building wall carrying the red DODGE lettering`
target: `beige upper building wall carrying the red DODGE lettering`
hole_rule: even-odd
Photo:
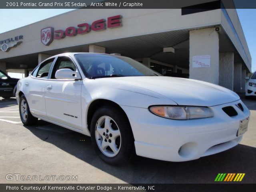
[[[123,26],[119,28],[54,40],[49,46],[45,46],[40,40],[43,28],[65,30],[69,26],[76,27],[84,22],[92,24],[95,20],[119,14],[123,16]],[[19,46],[12,48],[10,52],[0,52],[0,59],[130,36],[214,25],[220,23],[220,20],[220,10],[182,16],[181,9],[79,9],[0,34],[0,40],[23,35],[23,42]]]

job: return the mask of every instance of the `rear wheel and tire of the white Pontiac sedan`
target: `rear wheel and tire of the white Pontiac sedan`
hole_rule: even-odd
[[[20,96],[19,102],[20,119],[24,125],[34,125],[38,121],[38,118],[32,116],[28,102],[24,95]]]

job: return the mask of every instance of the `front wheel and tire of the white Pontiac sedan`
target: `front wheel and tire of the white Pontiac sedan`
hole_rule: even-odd
[[[110,124],[105,125],[105,122]],[[110,105],[102,106],[94,113],[90,129],[92,145],[104,162],[120,165],[130,160],[134,153],[134,137],[123,111]]]

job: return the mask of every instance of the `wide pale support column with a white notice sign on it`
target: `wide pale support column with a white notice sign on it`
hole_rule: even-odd
[[[219,83],[219,36],[215,28],[189,32],[189,78],[214,84]],[[210,55],[210,67],[194,68],[193,56]]]

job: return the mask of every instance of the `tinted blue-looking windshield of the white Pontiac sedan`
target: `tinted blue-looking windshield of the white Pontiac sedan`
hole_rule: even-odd
[[[87,78],[161,76],[131,58],[106,54],[75,54]]]

